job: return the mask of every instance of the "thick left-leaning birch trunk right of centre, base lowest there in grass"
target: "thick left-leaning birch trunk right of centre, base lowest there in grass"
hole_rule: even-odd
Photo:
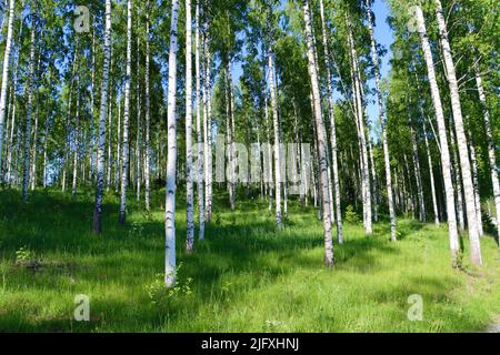
[[[321,97],[318,83],[317,62],[314,55],[314,45],[312,39],[311,16],[309,10],[309,1],[303,0],[303,19],[306,22],[306,42],[308,54],[308,70],[311,78],[312,97],[314,103],[314,120],[318,136],[318,155],[320,164],[320,184],[322,191],[322,210],[323,210],[323,227],[324,227],[324,264],[333,265],[333,243],[331,237],[331,216],[330,216],[330,196],[328,193],[328,164],[327,164],[327,142],[323,118],[321,113]]]

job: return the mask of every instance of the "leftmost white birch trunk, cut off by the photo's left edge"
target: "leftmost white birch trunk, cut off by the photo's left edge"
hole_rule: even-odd
[[[1,87],[1,93],[0,93],[0,169],[2,166],[3,122],[6,120],[7,88],[9,84],[9,65],[10,65],[10,51],[12,49],[12,28],[13,28],[13,19],[14,19],[14,6],[16,6],[16,1],[10,0],[9,24],[8,24],[8,29],[7,29],[6,49],[3,52],[2,87]],[[3,181],[3,170],[0,171],[0,181]]]

